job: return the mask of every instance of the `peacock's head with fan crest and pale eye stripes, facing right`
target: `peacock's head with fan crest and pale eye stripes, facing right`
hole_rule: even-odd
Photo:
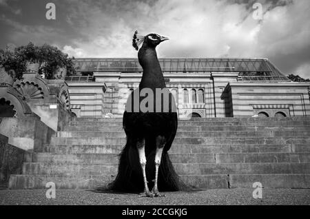
[[[141,43],[146,43],[149,47],[155,48],[159,43],[167,41],[169,38],[165,36],[160,36],[158,34],[147,34],[146,36],[138,35],[138,31],[134,32],[134,37],[132,39],[132,46],[138,50]]]

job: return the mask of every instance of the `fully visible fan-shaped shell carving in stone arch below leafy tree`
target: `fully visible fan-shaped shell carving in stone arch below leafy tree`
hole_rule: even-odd
[[[23,100],[44,98],[42,88],[33,82],[21,82],[16,85],[15,90],[19,92],[19,95]]]

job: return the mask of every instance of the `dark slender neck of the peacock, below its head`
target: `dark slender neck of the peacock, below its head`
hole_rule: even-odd
[[[143,44],[138,52],[138,61],[143,67],[143,75],[140,82],[140,88],[164,88],[165,80],[161,65],[159,64],[155,48],[150,48]]]

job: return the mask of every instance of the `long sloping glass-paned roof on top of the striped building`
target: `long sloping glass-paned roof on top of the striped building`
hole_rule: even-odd
[[[239,72],[242,81],[289,81],[268,59],[158,59],[163,72]],[[77,72],[142,72],[138,59],[76,59]]]

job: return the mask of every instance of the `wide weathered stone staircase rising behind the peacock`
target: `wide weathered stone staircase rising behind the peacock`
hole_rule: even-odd
[[[199,188],[310,187],[310,119],[192,118],[180,121],[169,151],[174,167]],[[121,118],[76,118],[36,149],[10,189],[94,189],[117,173],[125,145]]]

